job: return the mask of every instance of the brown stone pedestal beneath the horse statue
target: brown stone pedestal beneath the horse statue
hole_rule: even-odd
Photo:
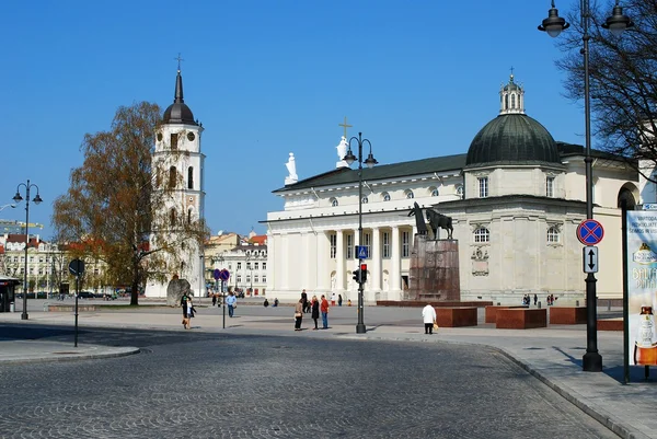
[[[416,234],[408,277],[410,300],[460,301],[459,241]]]

